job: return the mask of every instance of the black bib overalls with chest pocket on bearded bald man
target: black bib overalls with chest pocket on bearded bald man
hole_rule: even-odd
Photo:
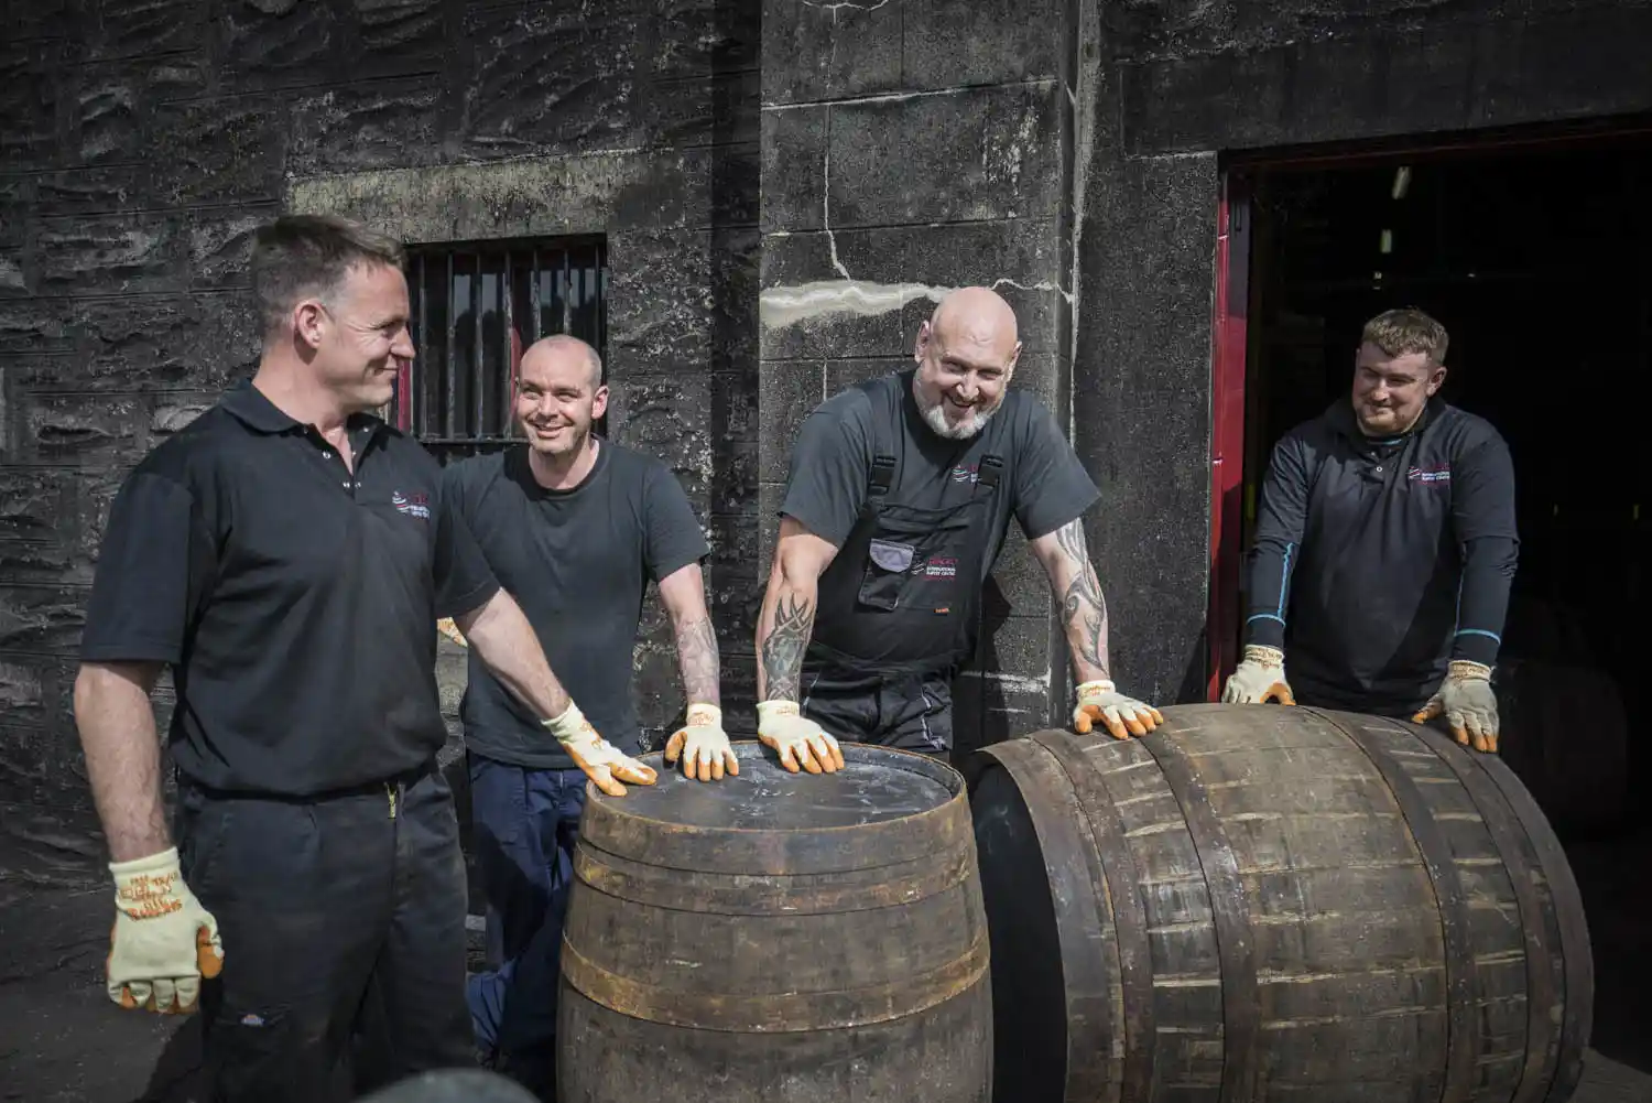
[[[894,450],[874,455],[861,516],[821,575],[801,708],[839,739],[945,754],[952,680],[980,635],[1003,460],[983,456],[970,496],[940,509],[892,496],[897,463]]]

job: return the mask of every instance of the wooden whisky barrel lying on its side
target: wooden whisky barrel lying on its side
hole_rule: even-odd
[[[970,759],[998,1103],[1561,1103],[1576,883],[1495,757],[1414,724],[1188,704]]]

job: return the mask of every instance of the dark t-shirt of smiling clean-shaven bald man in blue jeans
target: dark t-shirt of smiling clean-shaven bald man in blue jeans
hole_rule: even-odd
[[[454,463],[446,485],[557,678],[608,742],[634,754],[631,655],[643,595],[651,580],[710,552],[682,485],[657,460],[606,440],[573,489],[540,486],[527,446]],[[474,652],[459,714],[471,751],[534,769],[573,766]]]

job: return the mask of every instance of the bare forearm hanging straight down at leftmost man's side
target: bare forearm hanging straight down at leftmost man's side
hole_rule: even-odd
[[[172,845],[160,795],[160,738],[149,703],[154,671],[88,665],[74,680],[74,723],[86,752],[109,857],[131,862]]]

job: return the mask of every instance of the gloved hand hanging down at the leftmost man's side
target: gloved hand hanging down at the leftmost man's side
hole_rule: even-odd
[[[218,921],[183,883],[178,848],[111,862],[109,871],[116,906],[106,966],[109,999],[127,1010],[190,1014],[202,977],[223,969],[223,943]]]

